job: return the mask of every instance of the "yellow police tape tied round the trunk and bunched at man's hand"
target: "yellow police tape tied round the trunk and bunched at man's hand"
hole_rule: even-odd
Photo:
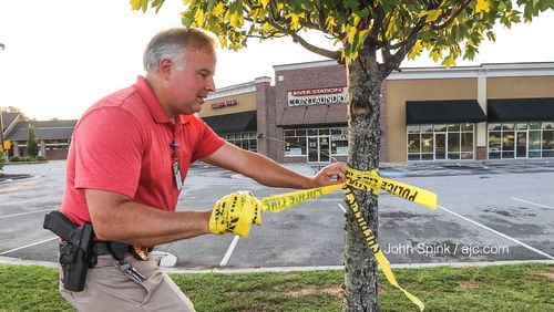
[[[408,299],[410,299],[421,311],[423,311],[423,302],[406,289],[401,288],[397,282],[394,274],[390,269],[389,261],[384,257],[376,237],[368,228],[368,225],[360,212],[352,188],[371,191],[375,195],[379,195],[379,189],[383,189],[398,197],[425,206],[431,210],[437,209],[437,195],[419,187],[380,177],[377,170],[360,171],[347,168],[346,177],[347,179],[342,184],[274,195],[261,199],[261,201],[256,199],[252,193],[234,193],[223,197],[214,206],[215,210],[213,212],[213,217],[211,218],[211,229],[214,233],[232,231],[243,237],[248,237],[250,222],[261,225],[261,215],[258,212],[259,208],[264,211],[280,212],[308,199],[312,199],[342,188],[346,202],[353,212],[356,221],[360,226],[361,232],[366,238],[366,242],[376,257],[377,263],[381,268],[384,277],[390,284],[401,290]],[[250,205],[248,209],[237,209],[239,206],[246,208],[246,205]],[[244,212],[243,210],[248,210],[249,212]],[[248,216],[242,216],[243,214],[248,214]],[[240,221],[240,219],[243,219],[243,221]]]

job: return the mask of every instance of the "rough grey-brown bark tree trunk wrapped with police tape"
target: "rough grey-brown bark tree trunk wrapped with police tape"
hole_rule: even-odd
[[[360,170],[379,167],[379,108],[382,79],[376,51],[361,49],[348,66],[348,166]],[[369,229],[377,239],[377,196],[353,189]],[[379,311],[377,300],[377,261],[369,249],[352,211],[345,226],[345,300],[343,311]]]

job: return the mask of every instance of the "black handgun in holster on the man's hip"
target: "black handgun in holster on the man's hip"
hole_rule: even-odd
[[[60,243],[60,264],[63,270],[63,287],[70,291],[82,291],[86,271],[91,267],[93,230],[90,222],[75,226],[60,211],[44,216],[43,228],[63,239]]]

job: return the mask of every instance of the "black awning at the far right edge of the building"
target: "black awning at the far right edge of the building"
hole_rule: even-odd
[[[554,121],[554,98],[489,100],[490,123]]]

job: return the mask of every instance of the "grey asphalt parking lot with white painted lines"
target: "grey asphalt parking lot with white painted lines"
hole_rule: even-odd
[[[305,174],[308,165],[290,165]],[[0,260],[54,262],[57,237],[42,229],[59,208],[65,162],[7,165],[0,180]],[[381,175],[437,193],[431,211],[381,193],[379,243],[392,264],[488,261],[554,261],[554,164],[550,162],[384,164]],[[207,209],[222,196],[248,189],[258,198],[288,191],[240,175],[193,166],[178,210]],[[204,236],[156,247],[177,257],[176,267],[201,269],[342,266],[345,202],[340,191],[280,214],[263,215],[247,239]]]

